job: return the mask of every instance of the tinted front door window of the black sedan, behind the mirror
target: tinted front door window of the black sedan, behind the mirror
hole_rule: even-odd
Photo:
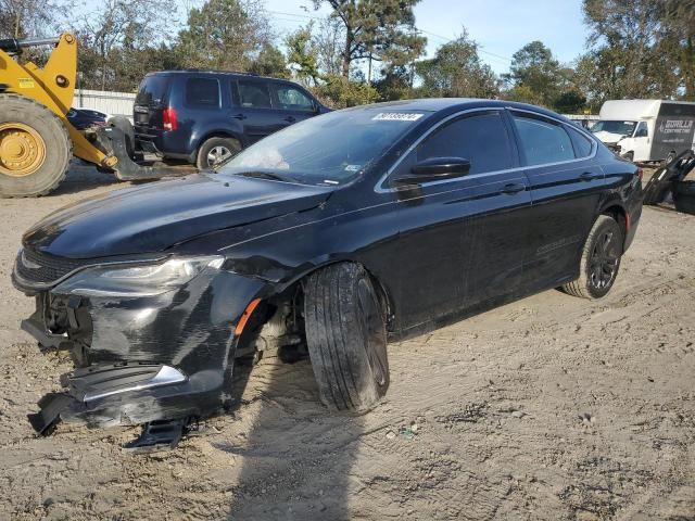
[[[463,157],[470,174],[514,166],[511,143],[497,112],[467,116],[435,130],[417,148],[417,160]]]

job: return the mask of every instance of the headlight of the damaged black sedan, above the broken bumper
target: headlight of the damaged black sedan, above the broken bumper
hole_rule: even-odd
[[[161,264],[140,266],[97,266],[78,271],[61,282],[55,293],[85,296],[153,296],[179,288],[205,268],[219,269],[225,258],[170,258]]]

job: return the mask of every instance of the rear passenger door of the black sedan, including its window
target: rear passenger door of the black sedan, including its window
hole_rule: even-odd
[[[595,143],[563,122],[510,111],[531,186],[531,224],[525,281],[531,291],[577,275],[581,249],[604,186]]]

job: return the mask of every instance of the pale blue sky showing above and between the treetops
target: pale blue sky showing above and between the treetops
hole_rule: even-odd
[[[581,54],[586,40],[581,4],[581,0],[421,0],[415,15],[428,37],[429,56],[465,26],[481,46],[480,56],[501,74],[509,68],[511,54],[533,40],[549,47],[561,62]],[[328,12],[325,8],[315,12],[311,0],[266,0],[266,9],[280,37]]]

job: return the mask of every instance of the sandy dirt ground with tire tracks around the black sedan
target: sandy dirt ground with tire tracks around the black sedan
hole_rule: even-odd
[[[172,453],[135,429],[25,415],[70,368],[18,330],[20,237],[122,187],[74,168],[39,200],[1,200],[0,519],[695,519],[695,217],[646,207],[611,293],[558,291],[390,346],[371,412],[328,414],[308,361],[266,359],[233,416]]]

